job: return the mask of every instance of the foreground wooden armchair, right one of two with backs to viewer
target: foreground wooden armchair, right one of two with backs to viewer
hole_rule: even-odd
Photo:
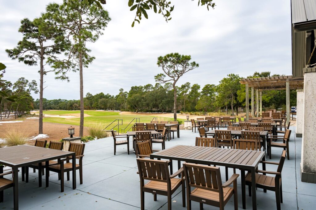
[[[191,201],[224,209],[229,199],[234,195],[234,209],[238,209],[237,178],[239,174],[233,174],[227,182],[222,183],[219,167],[200,164],[183,163],[183,171],[186,182],[187,208],[191,209]],[[229,185],[233,184],[233,188]],[[191,191],[191,187],[195,188]]]

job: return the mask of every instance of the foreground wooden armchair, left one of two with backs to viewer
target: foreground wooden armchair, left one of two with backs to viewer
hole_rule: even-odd
[[[180,186],[182,187],[182,205],[185,207],[184,180],[175,178],[183,173],[183,168],[169,176],[167,161],[137,158],[137,166],[140,178],[141,210],[145,209],[145,192],[154,194],[154,201],[157,201],[157,194],[167,196],[168,210],[171,210],[171,196]],[[145,180],[149,182],[145,184]]]

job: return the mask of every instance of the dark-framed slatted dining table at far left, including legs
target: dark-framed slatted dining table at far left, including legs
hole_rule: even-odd
[[[46,187],[49,185],[49,161],[60,158],[72,157],[72,188],[76,189],[76,153],[58,149],[48,149],[30,145],[18,145],[0,148],[0,164],[12,167],[13,171],[13,202],[14,209],[19,209],[19,180],[18,168],[38,163],[39,187],[42,186],[42,162],[46,164]]]

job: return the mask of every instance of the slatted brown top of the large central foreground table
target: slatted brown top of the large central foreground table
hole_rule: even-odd
[[[150,157],[247,168],[257,166],[264,155],[263,151],[177,145],[153,153]]]

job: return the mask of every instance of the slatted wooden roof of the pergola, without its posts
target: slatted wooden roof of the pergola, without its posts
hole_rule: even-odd
[[[291,90],[303,89],[304,77],[276,76],[240,80],[240,84],[248,85],[255,90],[285,90],[286,82],[289,82]]]

